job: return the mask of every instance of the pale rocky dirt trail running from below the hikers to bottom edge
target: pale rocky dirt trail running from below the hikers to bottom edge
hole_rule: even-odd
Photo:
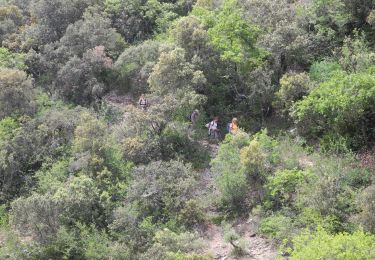
[[[206,141],[202,142],[202,145],[209,149],[211,158],[214,158],[217,155],[219,150],[218,145]],[[211,195],[215,194],[216,190],[213,183],[214,178],[211,169],[206,168],[202,174],[202,191],[204,190],[204,193],[210,192]],[[204,193],[202,193],[202,196],[209,196],[209,194]],[[247,252],[247,254],[242,257],[235,257],[231,255],[233,246],[224,239],[223,228],[220,225],[209,224],[205,232],[204,252],[212,256],[213,259],[221,260],[275,259],[277,255],[276,249],[267,239],[256,234],[256,225],[256,222],[253,220],[243,220],[233,226],[236,232],[241,236],[241,239],[246,241],[245,250]]]

